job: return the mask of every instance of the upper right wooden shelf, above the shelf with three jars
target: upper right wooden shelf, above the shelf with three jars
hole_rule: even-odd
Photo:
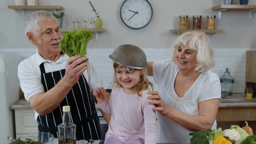
[[[256,10],[256,5],[219,5],[212,10]]]

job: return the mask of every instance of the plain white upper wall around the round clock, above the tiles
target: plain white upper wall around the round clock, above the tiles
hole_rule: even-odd
[[[153,18],[148,26],[142,29],[130,29],[125,26],[119,16],[124,0],[91,0],[103,20],[103,28],[99,40],[89,43],[89,48],[115,48],[121,44],[131,43],[141,48],[171,48],[176,34],[170,29],[178,27],[178,16],[217,15],[211,7],[219,5],[223,0],[148,0],[153,7]],[[238,3],[238,0],[234,0]],[[26,10],[22,16],[20,11],[7,9],[14,0],[0,1],[0,48],[33,48],[23,33],[24,21],[34,10]],[[72,27],[70,14],[81,16],[93,14],[88,0],[39,0],[40,5],[61,5],[66,16],[63,27]],[[249,0],[256,5],[256,0]],[[81,22],[81,26],[82,26]],[[210,39],[213,47],[222,48],[256,48],[256,12],[249,20],[248,11],[223,12],[222,19],[217,20],[217,28],[223,33],[213,34]]]

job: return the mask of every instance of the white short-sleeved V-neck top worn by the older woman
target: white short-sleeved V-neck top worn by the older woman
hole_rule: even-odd
[[[170,59],[156,61],[153,64],[154,82],[158,84],[159,95],[170,107],[190,115],[198,115],[200,101],[221,99],[220,79],[210,70],[201,72],[184,97],[178,97],[174,91],[174,81],[178,71],[177,65]],[[190,143],[191,136],[188,134],[192,131],[188,131],[180,124],[159,113],[157,114],[159,121],[158,143]],[[214,121],[212,129],[216,129],[216,127],[217,124]]]

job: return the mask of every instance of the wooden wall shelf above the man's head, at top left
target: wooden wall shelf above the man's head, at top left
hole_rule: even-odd
[[[13,10],[63,10],[62,6],[8,6]]]

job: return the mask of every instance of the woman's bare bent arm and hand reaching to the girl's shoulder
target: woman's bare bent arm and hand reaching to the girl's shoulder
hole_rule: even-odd
[[[149,104],[156,106],[156,108],[153,108],[154,111],[159,111],[161,115],[170,118],[189,131],[211,129],[220,104],[220,99],[218,98],[201,101],[199,102],[199,114],[189,115],[166,105],[158,92],[148,92],[148,94],[152,95],[148,96],[148,99],[156,100],[149,101]]]

